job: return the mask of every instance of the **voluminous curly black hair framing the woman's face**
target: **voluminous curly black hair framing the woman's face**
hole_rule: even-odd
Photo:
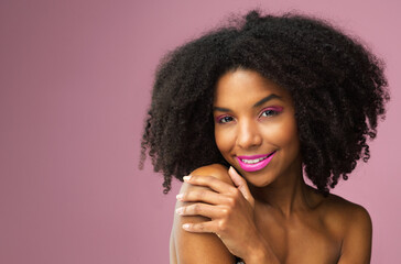
[[[228,165],[214,139],[213,97],[220,76],[251,69],[292,95],[303,168],[327,195],[370,157],[390,99],[383,62],[321,19],[248,12],[169,53],[159,65],[141,141],[155,172],[182,180],[197,167]]]

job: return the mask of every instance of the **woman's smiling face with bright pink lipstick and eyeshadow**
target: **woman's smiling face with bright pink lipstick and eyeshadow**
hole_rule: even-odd
[[[214,99],[217,147],[253,186],[299,173],[300,141],[291,95],[257,72],[223,75]]]

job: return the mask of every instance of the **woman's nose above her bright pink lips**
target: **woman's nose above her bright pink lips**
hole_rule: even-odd
[[[262,136],[258,124],[254,121],[247,120],[238,123],[237,127],[237,145],[241,148],[254,148],[262,143]]]

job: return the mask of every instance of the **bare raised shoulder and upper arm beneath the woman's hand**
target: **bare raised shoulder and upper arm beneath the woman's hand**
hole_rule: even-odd
[[[220,164],[212,164],[199,167],[192,172],[191,175],[213,176],[225,183],[232,184],[228,175],[228,168]],[[183,183],[180,193],[187,193],[193,188],[206,187],[191,186]],[[187,205],[189,205],[189,202],[177,201],[175,208]],[[182,228],[184,223],[205,221],[209,221],[209,219],[201,216],[174,216],[171,238],[171,249],[173,249],[171,251],[171,263],[234,263],[234,256],[216,234],[191,233]]]

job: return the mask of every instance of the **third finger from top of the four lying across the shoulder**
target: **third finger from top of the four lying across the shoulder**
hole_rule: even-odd
[[[180,207],[175,212],[180,216],[202,216],[210,219],[221,218],[224,215],[227,215],[225,208],[206,204],[193,204],[191,206]]]

